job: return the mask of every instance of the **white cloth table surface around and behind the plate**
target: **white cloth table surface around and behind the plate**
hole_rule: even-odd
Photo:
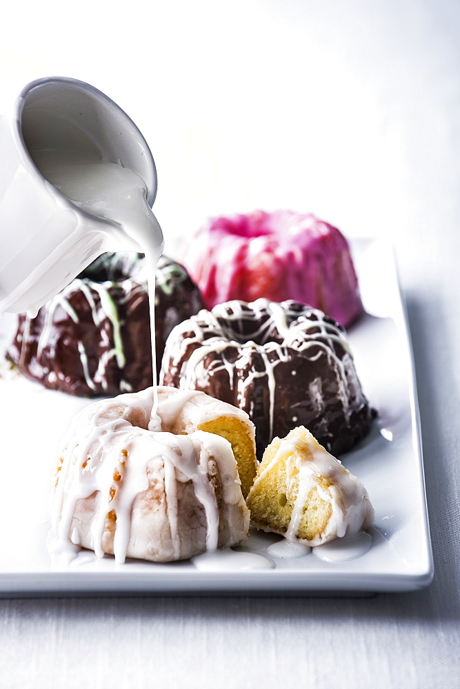
[[[435,577],[371,599],[0,600],[0,686],[459,687],[459,3],[103,4],[34,5],[28,21],[12,7],[2,98],[15,80],[66,74],[125,107],[154,151],[167,247],[208,213],[253,207],[390,237]]]

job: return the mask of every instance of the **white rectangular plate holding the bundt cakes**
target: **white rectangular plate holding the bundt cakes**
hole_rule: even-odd
[[[91,400],[48,391],[12,374],[0,378],[0,596],[63,595],[363,595],[428,586],[433,576],[412,348],[392,249],[380,240],[352,243],[364,316],[349,331],[357,371],[379,411],[366,440],[343,455],[368,489],[376,518],[372,545],[354,559],[327,562],[269,555],[279,536],[251,534],[244,558],[219,553],[192,562],[153,564],[81,551],[70,562],[50,555],[47,502],[57,444],[72,415]],[[6,347],[15,317],[0,320]],[[241,553],[241,549],[239,549]],[[258,564],[266,566],[259,567]],[[206,564],[208,566],[206,566]]]

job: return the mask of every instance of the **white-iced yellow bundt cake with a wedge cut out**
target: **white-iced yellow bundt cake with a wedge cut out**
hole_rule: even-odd
[[[64,550],[170,562],[245,541],[249,513],[232,445],[252,483],[248,416],[204,393],[159,388],[161,431],[151,431],[153,404],[150,388],[92,402],[72,420],[51,515]]]

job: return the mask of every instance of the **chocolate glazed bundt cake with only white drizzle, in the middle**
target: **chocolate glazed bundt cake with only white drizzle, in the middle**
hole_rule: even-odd
[[[259,459],[274,437],[296,426],[339,455],[372,422],[343,327],[294,301],[234,300],[203,309],[170,334],[160,383],[246,411]]]

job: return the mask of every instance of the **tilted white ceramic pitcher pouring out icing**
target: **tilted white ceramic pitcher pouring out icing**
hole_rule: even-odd
[[[154,202],[152,154],[116,103],[76,79],[26,85],[0,118],[0,316],[36,312],[104,251],[141,250],[116,223],[79,208],[39,172],[30,152],[64,145],[97,150],[131,169],[146,185],[148,205]]]

